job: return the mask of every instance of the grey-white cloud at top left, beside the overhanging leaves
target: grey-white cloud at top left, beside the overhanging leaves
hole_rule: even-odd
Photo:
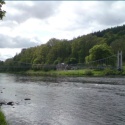
[[[5,20],[16,20],[18,23],[30,18],[44,20],[57,12],[60,3],[55,1],[7,1],[5,9],[8,13]]]

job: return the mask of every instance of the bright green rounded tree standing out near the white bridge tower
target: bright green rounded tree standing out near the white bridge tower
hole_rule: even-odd
[[[106,43],[95,45],[89,50],[89,56],[86,57],[86,62],[101,60],[111,55],[113,55],[113,50]]]

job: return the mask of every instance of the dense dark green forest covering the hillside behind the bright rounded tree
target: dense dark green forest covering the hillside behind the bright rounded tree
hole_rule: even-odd
[[[102,31],[78,36],[72,40],[50,39],[46,44],[22,49],[21,53],[5,62],[0,61],[1,70],[25,70],[38,69],[41,65],[81,64],[89,55],[89,50],[95,46],[106,43],[116,54],[123,52],[125,61],[125,25],[117,26]],[[18,67],[18,68],[16,68]]]

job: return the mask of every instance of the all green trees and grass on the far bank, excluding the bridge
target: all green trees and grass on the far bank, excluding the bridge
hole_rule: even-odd
[[[87,68],[58,71],[55,68],[60,63],[85,64],[116,55],[118,51],[123,52],[123,62],[125,62],[125,25],[79,36],[72,40],[52,38],[46,44],[22,49],[21,53],[13,58],[0,61],[0,72],[67,76],[124,75],[124,69],[119,72],[110,68],[98,71]],[[116,59],[110,59],[108,66],[116,68],[115,64]],[[106,63],[104,65],[107,66]]]

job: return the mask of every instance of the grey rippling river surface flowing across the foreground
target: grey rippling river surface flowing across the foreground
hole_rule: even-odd
[[[0,74],[0,101],[9,125],[125,125],[125,78]]]

